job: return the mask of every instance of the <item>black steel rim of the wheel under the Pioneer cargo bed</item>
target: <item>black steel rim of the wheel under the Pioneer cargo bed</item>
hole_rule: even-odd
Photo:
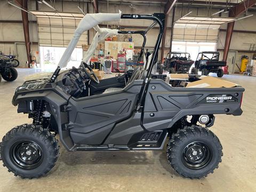
[[[212,149],[205,142],[191,142],[182,152],[182,162],[189,169],[202,169],[211,159]]]

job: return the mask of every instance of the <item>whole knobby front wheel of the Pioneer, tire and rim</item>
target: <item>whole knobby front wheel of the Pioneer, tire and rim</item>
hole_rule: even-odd
[[[6,133],[0,143],[3,166],[21,178],[39,178],[59,157],[58,141],[41,126],[24,124]]]

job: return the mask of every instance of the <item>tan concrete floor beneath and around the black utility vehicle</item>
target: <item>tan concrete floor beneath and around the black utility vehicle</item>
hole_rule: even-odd
[[[0,138],[16,125],[31,123],[11,100],[23,77],[35,69],[18,69],[14,82],[0,83]],[[213,75],[215,76],[215,75]],[[242,116],[217,115],[223,157],[219,169],[200,180],[183,179],[167,163],[163,151],[77,151],[63,146],[53,170],[40,179],[21,179],[0,163],[0,191],[256,191],[256,78],[225,75],[245,87]]]

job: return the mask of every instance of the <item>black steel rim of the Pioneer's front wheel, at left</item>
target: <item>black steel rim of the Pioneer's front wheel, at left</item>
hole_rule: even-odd
[[[10,150],[12,162],[20,169],[32,170],[41,165],[43,161],[43,153],[33,141],[16,142]]]

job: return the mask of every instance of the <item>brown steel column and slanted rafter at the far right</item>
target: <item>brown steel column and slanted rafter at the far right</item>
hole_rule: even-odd
[[[231,7],[229,11],[229,17],[237,17],[239,14],[242,14],[247,9],[252,7],[254,4],[256,4],[256,0],[244,0],[242,3],[239,3],[238,5]],[[223,53],[224,61],[227,61],[227,58],[228,58],[228,51],[229,51],[229,47],[232,39],[234,26],[235,26],[235,21],[228,23],[226,41],[225,41],[225,47],[224,47],[224,53]]]

